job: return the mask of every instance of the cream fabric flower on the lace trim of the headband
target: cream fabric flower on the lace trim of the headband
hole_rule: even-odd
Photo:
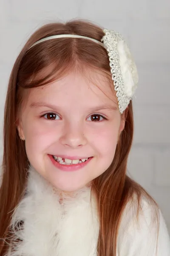
[[[119,53],[125,95],[131,98],[135,93],[139,80],[136,64],[125,41],[118,42],[117,51]]]

